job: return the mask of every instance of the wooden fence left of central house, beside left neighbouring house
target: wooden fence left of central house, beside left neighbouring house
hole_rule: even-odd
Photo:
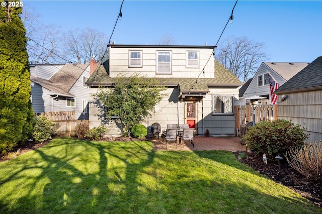
[[[54,123],[58,136],[70,136],[74,134],[77,124],[89,125],[89,120],[54,121]]]

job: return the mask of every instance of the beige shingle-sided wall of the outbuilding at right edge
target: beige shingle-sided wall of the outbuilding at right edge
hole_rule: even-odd
[[[322,90],[278,95],[277,118],[291,120],[307,129],[307,142],[322,139]]]

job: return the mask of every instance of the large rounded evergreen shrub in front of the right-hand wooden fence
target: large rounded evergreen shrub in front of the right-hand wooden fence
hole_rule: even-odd
[[[283,155],[288,149],[304,145],[307,139],[305,129],[290,121],[262,121],[248,129],[243,137],[246,147],[256,153]]]

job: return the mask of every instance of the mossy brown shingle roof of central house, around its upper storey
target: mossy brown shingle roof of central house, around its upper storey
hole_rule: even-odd
[[[86,82],[89,86],[111,86],[115,78],[110,78],[107,74],[107,68],[99,66]],[[226,70],[217,60],[214,66],[215,78],[153,78],[161,85],[180,86],[182,92],[209,92],[209,86],[240,86],[240,80]],[[197,81],[197,84],[195,84]],[[191,88],[193,86],[193,88]]]

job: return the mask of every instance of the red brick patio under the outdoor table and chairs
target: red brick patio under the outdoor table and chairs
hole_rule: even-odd
[[[152,139],[153,150],[154,151],[226,150],[231,152],[246,151],[246,147],[240,144],[240,138],[234,137],[234,136],[228,136],[228,137],[195,136],[195,148],[193,148],[188,141],[185,141],[184,145],[179,145],[179,140],[177,140],[177,148],[176,148],[176,144],[173,141],[171,141],[170,144],[168,143],[167,149],[166,149],[166,139],[164,141],[165,143],[163,145],[161,137],[159,138],[159,140],[157,140],[157,137],[153,138]],[[182,141],[181,141],[181,144],[182,144]]]

